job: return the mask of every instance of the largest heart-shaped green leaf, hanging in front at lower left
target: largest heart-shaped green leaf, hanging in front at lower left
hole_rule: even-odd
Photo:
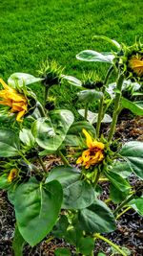
[[[31,246],[38,244],[51,231],[62,199],[62,187],[56,180],[42,184],[31,178],[16,189],[14,208],[18,229]]]

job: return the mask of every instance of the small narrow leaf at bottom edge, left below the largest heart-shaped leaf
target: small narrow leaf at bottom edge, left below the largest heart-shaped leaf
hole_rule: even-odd
[[[18,227],[16,225],[15,231],[14,231],[14,238],[12,242],[12,249],[14,251],[14,256],[23,256],[23,246],[26,243],[26,241],[21,236]]]

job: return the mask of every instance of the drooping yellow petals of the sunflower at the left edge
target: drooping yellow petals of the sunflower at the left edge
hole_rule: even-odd
[[[0,83],[4,87],[4,89],[0,91],[0,98],[2,98],[0,105],[9,105],[10,112],[18,113],[16,120],[18,122],[22,122],[21,118],[25,115],[28,109],[28,101],[26,97],[18,93],[15,89],[11,88],[2,79],[0,79]]]

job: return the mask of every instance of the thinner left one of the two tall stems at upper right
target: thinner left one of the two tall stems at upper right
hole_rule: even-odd
[[[106,90],[106,85],[107,85],[107,82],[112,74],[112,70],[113,70],[113,67],[111,66],[107,72],[107,75],[105,77],[105,81],[104,81],[104,84],[103,84],[103,88],[102,88],[102,93],[103,93],[103,97],[101,98],[100,100],[100,105],[99,105],[99,111],[98,111],[98,118],[97,118],[97,126],[96,126],[96,136],[98,137],[99,136],[99,132],[100,132],[100,127],[101,127],[101,121],[103,119],[103,105],[104,105],[104,93],[105,93],[105,90]]]

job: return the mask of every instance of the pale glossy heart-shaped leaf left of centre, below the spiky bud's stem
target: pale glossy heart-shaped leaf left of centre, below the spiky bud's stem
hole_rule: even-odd
[[[39,118],[31,131],[37,144],[48,151],[57,151],[64,141],[74,117],[70,110],[58,109],[49,113],[49,118]]]

